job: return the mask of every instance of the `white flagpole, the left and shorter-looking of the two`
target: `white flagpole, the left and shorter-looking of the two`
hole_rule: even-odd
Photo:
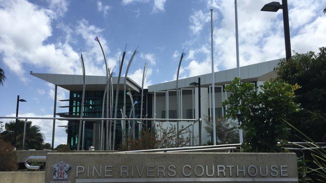
[[[213,9],[211,9],[211,51],[212,51],[212,109],[213,109],[213,142],[216,145],[216,126],[215,126],[215,78],[214,78],[214,55],[213,55]]]

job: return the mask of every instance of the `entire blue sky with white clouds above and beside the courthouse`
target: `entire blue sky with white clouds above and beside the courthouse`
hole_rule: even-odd
[[[281,11],[260,11],[268,2],[238,0],[240,65],[285,57]],[[303,53],[325,46],[326,0],[288,0],[288,5],[292,50]],[[54,86],[29,71],[81,74],[79,49],[86,74],[104,75],[96,35],[112,68],[126,43],[127,59],[139,45],[128,74],[138,83],[145,61],[145,85],[175,79],[183,48],[187,56],[181,77],[210,72],[210,8],[214,69],[235,67],[233,0],[0,0],[0,67],[7,76],[0,86],[0,116],[15,115],[18,94],[27,100],[20,103],[21,116],[52,116]],[[58,99],[66,98],[68,92],[59,88]],[[50,142],[52,122],[33,122]],[[64,129],[56,130],[56,145],[65,143]]]

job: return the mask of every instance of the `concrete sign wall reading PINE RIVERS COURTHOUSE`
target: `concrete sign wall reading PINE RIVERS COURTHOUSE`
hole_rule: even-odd
[[[295,153],[48,153],[45,182],[297,182]]]

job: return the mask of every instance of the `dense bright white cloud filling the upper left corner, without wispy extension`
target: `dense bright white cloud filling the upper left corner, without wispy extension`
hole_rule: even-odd
[[[47,9],[26,0],[8,1],[0,7],[0,21],[3,62],[22,80],[27,80],[25,63],[48,67],[58,73],[74,73],[77,69],[78,54],[69,44],[44,43],[52,35],[52,19]]]

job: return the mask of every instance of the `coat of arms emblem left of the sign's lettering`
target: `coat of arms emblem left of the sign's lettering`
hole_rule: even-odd
[[[68,162],[60,161],[52,165],[53,169],[53,180],[68,180],[69,172],[72,166]]]

